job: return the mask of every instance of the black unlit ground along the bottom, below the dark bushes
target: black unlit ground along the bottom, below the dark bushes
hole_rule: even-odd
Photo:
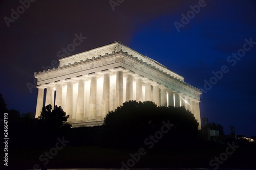
[[[35,164],[45,164],[49,168],[121,168],[121,162],[130,163],[131,168],[255,168],[256,147],[240,146],[232,154],[225,154],[226,146],[207,149],[163,149],[145,148],[140,158],[130,154],[138,153],[138,149],[110,149],[101,147],[65,146],[57,152],[51,148],[17,148],[8,153],[8,169],[33,169]],[[53,155],[47,158],[47,152]],[[231,150],[228,152],[231,152]],[[135,154],[136,155],[136,154]],[[225,157],[227,155],[227,157]],[[209,162],[222,157],[220,160]],[[130,162],[129,162],[130,159]],[[133,159],[133,160],[132,160]],[[218,167],[217,167],[218,166]]]

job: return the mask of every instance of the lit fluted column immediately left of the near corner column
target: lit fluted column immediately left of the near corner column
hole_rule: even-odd
[[[110,111],[110,73],[105,72],[103,78],[102,118]]]

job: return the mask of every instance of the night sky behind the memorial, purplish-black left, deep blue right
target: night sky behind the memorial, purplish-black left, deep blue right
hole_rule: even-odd
[[[8,109],[35,112],[37,89],[27,84],[81,33],[87,39],[71,54],[120,41],[204,91],[204,80],[226,65],[229,71],[201,96],[201,117],[223,125],[225,134],[235,126],[237,134],[256,135],[256,2],[206,0],[178,32],[174,22],[199,2],[124,0],[113,11],[109,0],[37,0],[8,27],[4,17],[21,4],[1,1],[0,93]],[[229,57],[250,38],[243,57]]]

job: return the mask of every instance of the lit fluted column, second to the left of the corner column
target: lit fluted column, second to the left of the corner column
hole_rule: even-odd
[[[97,106],[97,75],[91,76],[90,100],[89,100],[89,120],[96,118]]]

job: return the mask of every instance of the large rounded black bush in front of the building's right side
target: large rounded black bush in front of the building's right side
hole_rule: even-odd
[[[149,135],[161,130],[163,121],[173,126],[163,134],[163,145],[189,141],[197,136],[199,124],[194,114],[184,107],[157,107],[150,101],[129,101],[106,115],[102,141],[112,146],[141,146]]]

